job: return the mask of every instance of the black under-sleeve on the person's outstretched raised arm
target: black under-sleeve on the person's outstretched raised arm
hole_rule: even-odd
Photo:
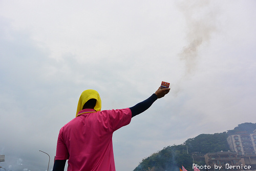
[[[155,101],[157,100],[157,95],[154,93],[151,97],[147,98],[143,102],[140,102],[136,104],[133,107],[130,107],[132,111],[132,117],[135,117],[136,115],[139,115],[146,109],[148,109]]]

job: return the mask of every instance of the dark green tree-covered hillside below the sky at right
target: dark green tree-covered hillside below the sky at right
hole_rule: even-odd
[[[205,165],[204,154],[230,150],[226,140],[229,135],[236,134],[237,131],[252,133],[255,129],[256,123],[243,123],[222,133],[201,134],[187,139],[183,144],[167,146],[144,158],[134,171],[179,171],[181,165],[192,171],[193,158],[198,165]]]

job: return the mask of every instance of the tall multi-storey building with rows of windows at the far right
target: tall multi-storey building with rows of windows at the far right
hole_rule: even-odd
[[[251,165],[252,169],[256,169],[256,129],[252,134],[248,132],[236,132],[227,138],[227,143],[231,151],[236,151],[241,157],[244,165]]]

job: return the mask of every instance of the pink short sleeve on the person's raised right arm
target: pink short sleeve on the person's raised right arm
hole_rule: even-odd
[[[132,111],[130,108],[109,110],[110,123],[113,131],[128,125],[132,119]]]

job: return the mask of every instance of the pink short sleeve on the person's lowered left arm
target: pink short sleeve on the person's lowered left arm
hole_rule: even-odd
[[[55,160],[68,160],[68,159],[69,159],[69,151],[65,142],[63,141],[63,127],[62,127],[59,131]]]

